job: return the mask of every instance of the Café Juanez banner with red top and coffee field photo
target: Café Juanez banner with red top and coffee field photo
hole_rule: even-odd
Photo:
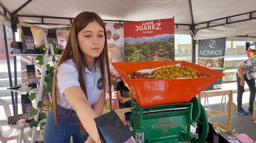
[[[174,19],[124,23],[124,60],[174,61]]]

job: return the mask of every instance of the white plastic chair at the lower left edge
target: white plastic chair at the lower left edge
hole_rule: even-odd
[[[0,103],[3,105],[5,116],[8,120],[8,117],[12,116],[10,107],[9,107],[8,103],[6,101],[4,101],[3,99],[0,99]],[[29,135],[29,133],[32,133],[32,130],[33,130],[33,128],[32,129],[29,129],[29,128],[24,129],[24,133],[23,133],[24,143],[29,143],[28,135]],[[10,141],[10,140],[17,140],[17,142],[18,142],[19,135],[20,135],[19,130],[13,129],[7,125],[2,126],[1,121],[0,121],[0,138],[1,138],[2,143],[7,143],[7,141]]]

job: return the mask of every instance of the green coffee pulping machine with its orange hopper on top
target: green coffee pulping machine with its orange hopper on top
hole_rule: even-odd
[[[131,79],[126,73],[162,65],[191,66],[212,77],[184,79]],[[208,136],[208,118],[195,97],[224,76],[215,70],[186,61],[151,61],[112,63],[135,100],[126,127],[136,143],[202,143]],[[200,120],[199,120],[200,117]],[[190,133],[191,125],[202,125],[199,137]]]

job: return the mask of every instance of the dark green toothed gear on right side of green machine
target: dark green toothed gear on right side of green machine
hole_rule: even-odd
[[[192,109],[192,121],[196,122],[201,114],[201,104],[198,101],[197,97],[190,100],[190,102],[193,103],[193,109]]]

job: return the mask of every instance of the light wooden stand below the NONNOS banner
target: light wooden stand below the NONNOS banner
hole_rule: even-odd
[[[228,127],[231,128],[232,124],[232,102],[233,102],[233,91],[227,90],[227,91],[204,91],[198,94],[198,100],[201,102],[202,98],[207,97],[214,97],[214,96],[223,96],[228,95],[229,96],[229,102],[228,102],[228,113],[225,113],[223,111],[217,110],[217,111],[208,111],[206,112],[209,117],[216,117],[216,116],[228,116]],[[206,100],[206,99],[205,99]],[[208,99],[207,99],[208,100]],[[226,103],[225,103],[226,104]],[[208,109],[209,110],[209,109]]]

